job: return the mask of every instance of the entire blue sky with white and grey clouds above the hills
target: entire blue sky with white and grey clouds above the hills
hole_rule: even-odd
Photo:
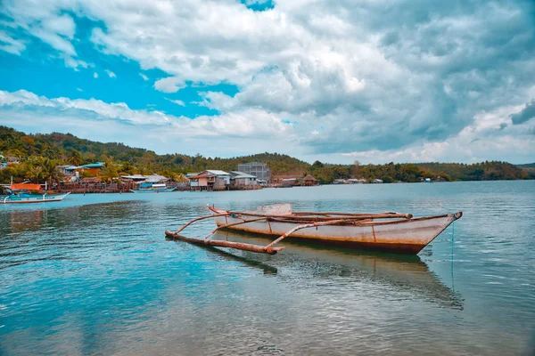
[[[535,161],[535,3],[0,0],[0,125],[158,153]]]

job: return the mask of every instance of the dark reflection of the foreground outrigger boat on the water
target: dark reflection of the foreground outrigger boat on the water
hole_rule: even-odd
[[[238,231],[218,231],[213,239],[259,245],[269,241],[256,234]],[[248,267],[259,268],[267,274],[276,274],[277,279],[291,283],[294,287],[317,286],[318,281],[327,279],[336,279],[336,287],[350,283],[373,283],[406,295],[407,299],[423,299],[443,307],[463,309],[461,295],[444,285],[418,255],[318,247],[295,241],[284,241],[282,245],[286,247],[284,252],[275,256],[209,246],[202,248],[214,251],[226,259],[242,262]]]

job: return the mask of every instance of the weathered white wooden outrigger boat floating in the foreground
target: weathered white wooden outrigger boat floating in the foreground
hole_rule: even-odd
[[[373,249],[397,254],[416,255],[433,239],[459,219],[463,213],[413,217],[412,214],[353,214],[340,212],[293,212],[290,204],[259,206],[256,210],[235,212],[208,206],[210,215],[193,219],[178,231],[165,231],[172,239],[217,247],[275,255],[284,247],[275,245],[283,239]],[[200,220],[213,218],[218,227],[205,239],[191,239],[180,232]],[[219,229],[247,231],[278,236],[267,246],[209,239]]]

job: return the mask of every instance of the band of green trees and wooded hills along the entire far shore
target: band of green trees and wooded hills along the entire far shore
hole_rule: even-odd
[[[514,166],[506,162],[481,162],[473,165],[455,163],[419,163],[387,165],[330,165],[319,161],[309,165],[297,158],[277,153],[260,153],[238,158],[205,158],[201,154],[157,155],[151,150],[136,149],[122,143],[92,142],[72,134],[24,134],[0,126],[0,154],[21,158],[21,163],[0,170],[0,182],[29,179],[32,182],[53,182],[61,179],[55,166],[106,162],[100,174],[109,181],[119,174],[158,173],[177,180],[183,174],[205,169],[235,170],[240,163],[266,163],[273,176],[297,177],[312,174],[322,183],[335,179],[382,179],[383,182],[420,182],[423,178],[444,181],[535,179],[533,165]]]

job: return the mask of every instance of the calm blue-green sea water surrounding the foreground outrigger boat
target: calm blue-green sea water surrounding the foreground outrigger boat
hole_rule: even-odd
[[[291,243],[269,256],[164,238],[207,204],[281,202],[464,216],[417,256]],[[213,227],[206,221],[185,234]],[[534,235],[533,181],[75,195],[0,206],[0,354],[531,354]]]

